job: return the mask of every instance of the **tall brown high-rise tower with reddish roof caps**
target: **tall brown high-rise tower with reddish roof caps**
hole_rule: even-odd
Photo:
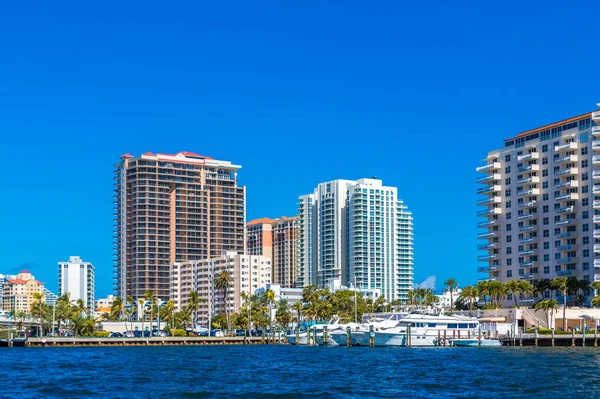
[[[168,298],[170,265],[245,252],[238,165],[191,152],[121,157],[115,167],[115,291]]]

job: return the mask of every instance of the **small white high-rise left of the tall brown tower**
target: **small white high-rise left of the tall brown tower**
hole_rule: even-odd
[[[72,301],[83,299],[85,307],[94,311],[94,265],[79,256],[69,257],[68,262],[58,262],[59,296],[69,293]]]

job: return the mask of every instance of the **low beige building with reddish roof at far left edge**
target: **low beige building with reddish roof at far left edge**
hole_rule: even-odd
[[[15,278],[9,278],[4,282],[3,307],[5,310],[14,309],[16,312],[29,313],[35,293],[41,294],[42,300],[45,302],[44,283],[37,281],[29,271],[23,270]]]

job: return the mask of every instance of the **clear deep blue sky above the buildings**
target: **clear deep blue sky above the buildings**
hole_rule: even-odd
[[[597,2],[290,3],[2,4],[0,273],[55,291],[80,255],[110,293],[113,164],[186,150],[243,166],[248,220],[375,175],[413,211],[416,281],[474,283],[475,167],[595,109]]]

